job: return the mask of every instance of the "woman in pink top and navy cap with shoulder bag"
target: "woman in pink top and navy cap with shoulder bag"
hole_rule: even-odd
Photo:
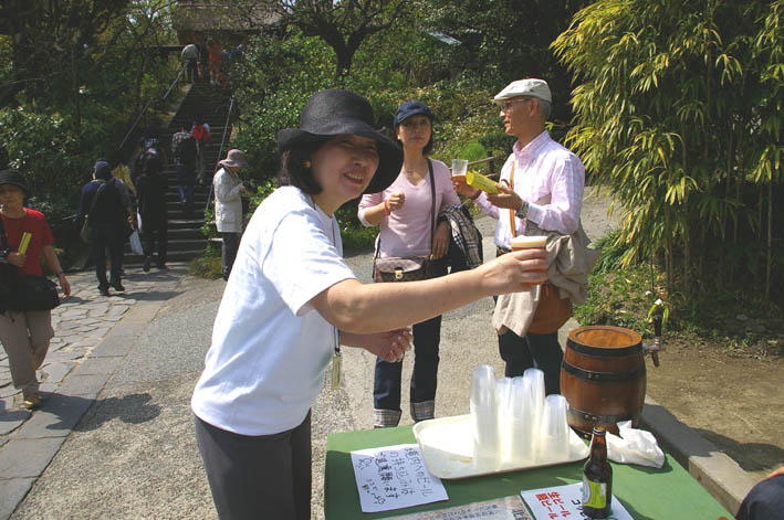
[[[432,149],[432,120],[430,108],[421,102],[407,100],[398,107],[395,132],[403,146],[403,167],[386,190],[363,195],[357,216],[366,226],[380,226],[377,256],[432,255],[432,276],[438,277],[447,274],[450,227],[448,222],[437,224],[436,219],[442,209],[459,205],[460,199],[447,165],[427,157]],[[416,323],[412,329],[416,357],[409,391],[410,413],[419,422],[433,418],[435,414],[441,316]],[[400,422],[401,372],[403,363],[376,359],[375,427],[397,426]]]

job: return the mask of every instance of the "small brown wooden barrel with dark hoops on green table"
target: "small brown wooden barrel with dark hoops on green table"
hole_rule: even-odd
[[[645,403],[642,338],[621,327],[589,326],[568,335],[561,367],[561,393],[568,423],[590,436],[594,426],[618,433],[616,423],[639,424]]]

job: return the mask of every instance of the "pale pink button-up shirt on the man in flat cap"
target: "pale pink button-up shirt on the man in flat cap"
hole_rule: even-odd
[[[563,235],[577,231],[585,188],[585,167],[579,158],[544,130],[525,147],[521,147],[520,141],[514,144],[501,170],[501,180],[509,182],[512,165],[512,189],[529,203],[527,219],[514,217],[516,234],[524,234],[526,220],[543,231],[556,231]],[[477,204],[483,213],[498,219],[495,245],[509,250],[512,238],[510,210],[493,205],[484,192],[477,198]]]

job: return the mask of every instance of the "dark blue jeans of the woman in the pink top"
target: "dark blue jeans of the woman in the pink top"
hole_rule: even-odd
[[[433,264],[433,277],[447,274],[447,263]],[[409,389],[411,403],[422,403],[436,399],[438,383],[438,347],[441,342],[441,317],[414,325],[414,371]],[[400,379],[403,363],[389,363],[376,358],[376,373],[373,383],[373,405],[376,410],[400,410]]]

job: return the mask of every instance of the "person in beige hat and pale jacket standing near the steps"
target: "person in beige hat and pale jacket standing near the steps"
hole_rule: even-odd
[[[223,279],[228,280],[242,236],[242,193],[250,193],[239,176],[240,169],[245,168],[248,162],[242,150],[229,150],[226,159],[219,161],[218,166],[221,168],[212,178],[215,222],[223,240],[221,273]]]

